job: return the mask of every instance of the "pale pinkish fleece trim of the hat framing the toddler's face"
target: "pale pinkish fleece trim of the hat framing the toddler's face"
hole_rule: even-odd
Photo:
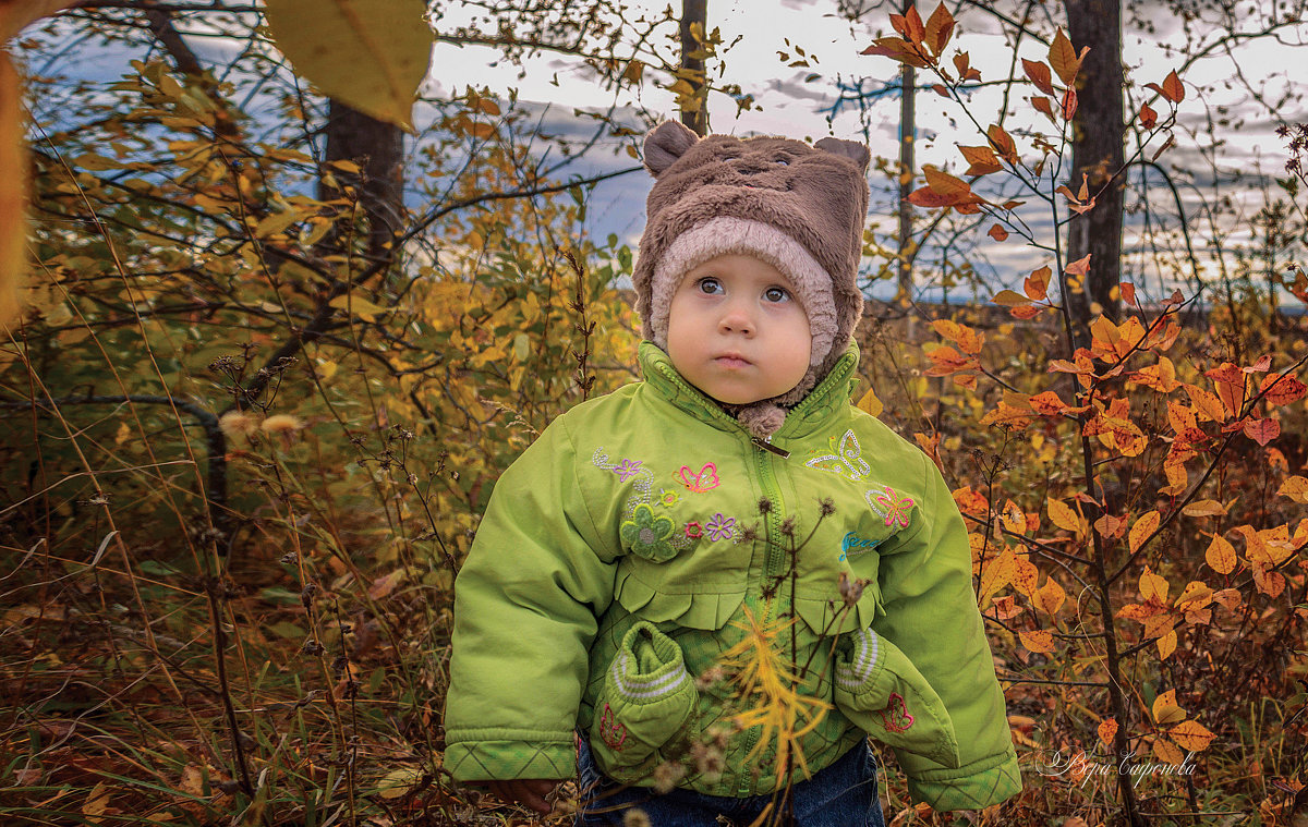
[[[836,339],[836,305],[831,296],[831,273],[799,243],[770,224],[743,219],[714,219],[681,233],[654,268],[650,284],[650,330],[654,344],[667,349],[667,322],[672,296],[700,264],[719,255],[742,254],[764,260],[789,280],[795,298],[808,317],[812,357],[818,366]]]

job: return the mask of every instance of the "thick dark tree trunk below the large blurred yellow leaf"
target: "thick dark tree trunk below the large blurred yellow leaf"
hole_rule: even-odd
[[[331,174],[337,183],[353,187],[357,194],[364,217],[368,220],[369,258],[392,259],[395,251],[390,245],[400,230],[404,216],[403,132],[392,123],[377,120],[339,101],[331,101],[326,133],[328,164],[353,161],[358,165],[358,175],[339,169],[332,169]],[[339,196],[336,188],[319,179],[319,200]],[[337,233],[343,229],[344,226],[337,225]]]

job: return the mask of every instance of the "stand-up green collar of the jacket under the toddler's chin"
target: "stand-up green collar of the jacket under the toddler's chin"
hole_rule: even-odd
[[[641,342],[638,357],[645,383],[661,396],[721,431],[744,431],[744,427],[722,407],[687,382],[672,360],[653,342]],[[849,349],[836,361],[831,372],[814,387],[807,396],[786,414],[786,421],[774,437],[803,437],[820,428],[836,412],[849,407],[850,394],[858,383],[858,345],[850,343]]]

